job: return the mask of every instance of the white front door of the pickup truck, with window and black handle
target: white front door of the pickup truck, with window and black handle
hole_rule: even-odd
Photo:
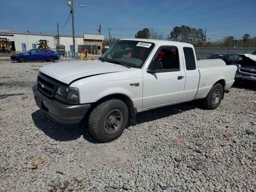
[[[154,61],[162,62],[163,69],[155,73],[143,72],[142,111],[179,102],[184,93],[186,74],[178,47],[160,46]]]

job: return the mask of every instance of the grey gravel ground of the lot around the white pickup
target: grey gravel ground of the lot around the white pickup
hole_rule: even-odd
[[[216,110],[194,101],[139,113],[102,144],[36,106],[31,87],[46,64],[0,62],[0,94],[22,94],[0,98],[0,191],[256,192],[256,134],[246,133],[256,129],[255,83],[230,88]]]

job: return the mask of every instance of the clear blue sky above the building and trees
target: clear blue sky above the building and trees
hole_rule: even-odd
[[[256,0],[77,0],[85,7],[75,8],[76,35],[98,33],[108,38],[134,38],[139,29],[153,28],[170,34],[174,26],[207,28],[212,40],[243,34],[256,36]],[[12,32],[56,34],[63,26],[70,7],[66,0],[0,0],[0,29]],[[76,0],[74,0],[76,4]],[[45,10],[45,11],[44,11]],[[60,34],[72,34],[70,20]]]

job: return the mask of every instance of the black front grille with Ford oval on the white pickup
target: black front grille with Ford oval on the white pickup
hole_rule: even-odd
[[[46,96],[54,98],[55,92],[59,86],[59,82],[45,74],[39,72],[37,78],[38,89]]]

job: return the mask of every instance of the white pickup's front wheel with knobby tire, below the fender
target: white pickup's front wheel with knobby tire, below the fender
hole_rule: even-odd
[[[128,115],[128,108],[123,101],[106,100],[90,113],[89,131],[100,142],[113,141],[122,135],[128,122]]]

